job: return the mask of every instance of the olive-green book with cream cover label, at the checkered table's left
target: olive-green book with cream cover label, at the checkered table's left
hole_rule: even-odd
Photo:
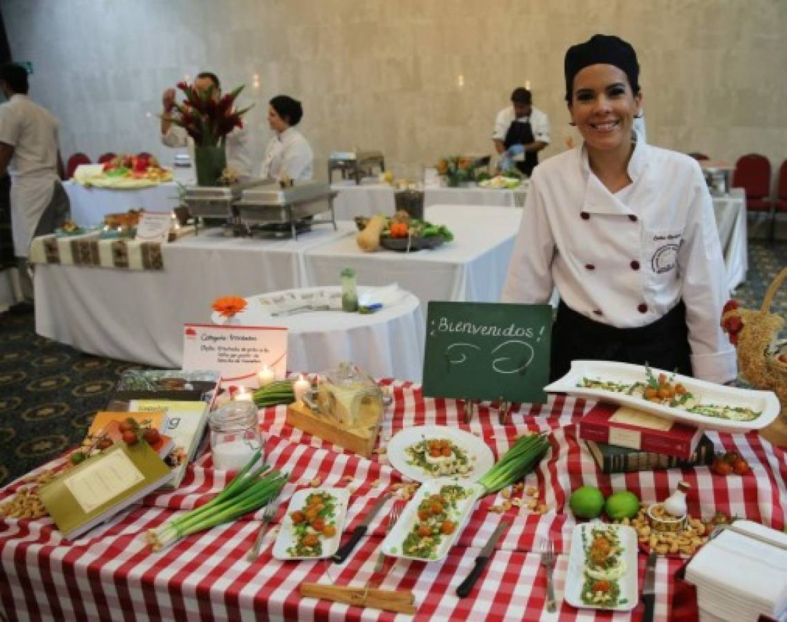
[[[42,486],[39,496],[63,535],[76,538],[174,475],[146,442],[116,442]]]

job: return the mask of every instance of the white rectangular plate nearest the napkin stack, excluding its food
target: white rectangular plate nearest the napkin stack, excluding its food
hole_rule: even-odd
[[[623,546],[623,561],[626,562],[626,570],[623,576],[618,579],[620,587],[620,600],[615,607],[603,605],[586,605],[582,602],[582,585],[585,583],[585,547],[582,546],[582,532],[586,533],[588,541],[592,538],[593,527],[601,526],[604,528],[615,529],[618,532],[618,539]],[[583,523],[575,526],[571,530],[571,550],[568,553],[568,568],[566,571],[566,602],[572,607],[587,609],[608,609],[611,611],[629,611],[634,609],[639,602],[637,589],[637,531],[626,525],[603,524],[599,522]]]

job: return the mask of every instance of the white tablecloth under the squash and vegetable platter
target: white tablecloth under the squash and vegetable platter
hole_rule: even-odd
[[[452,243],[417,253],[378,250],[364,253],[352,237],[306,251],[306,278],[312,285],[336,283],[342,268],[354,268],[358,283],[399,283],[421,301],[497,302],[508,270],[522,212],[506,207],[433,205],[427,220],[453,231]]]

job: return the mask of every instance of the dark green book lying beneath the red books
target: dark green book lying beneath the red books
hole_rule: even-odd
[[[656,454],[652,451],[633,450],[628,447],[608,445],[605,442],[585,441],[590,454],[604,473],[652,471],[655,468],[682,468],[710,465],[715,449],[711,439],[702,435],[689,460]]]

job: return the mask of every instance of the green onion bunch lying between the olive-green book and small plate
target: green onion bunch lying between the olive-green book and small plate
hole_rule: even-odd
[[[289,476],[278,471],[270,471],[263,475],[270,468],[268,465],[261,465],[252,471],[261,455],[261,451],[257,450],[224,490],[205,505],[192,509],[183,516],[168,520],[157,529],[150,529],[147,533],[147,542],[153,550],[161,550],[164,546],[169,546],[187,535],[254,512],[278,497]]]

